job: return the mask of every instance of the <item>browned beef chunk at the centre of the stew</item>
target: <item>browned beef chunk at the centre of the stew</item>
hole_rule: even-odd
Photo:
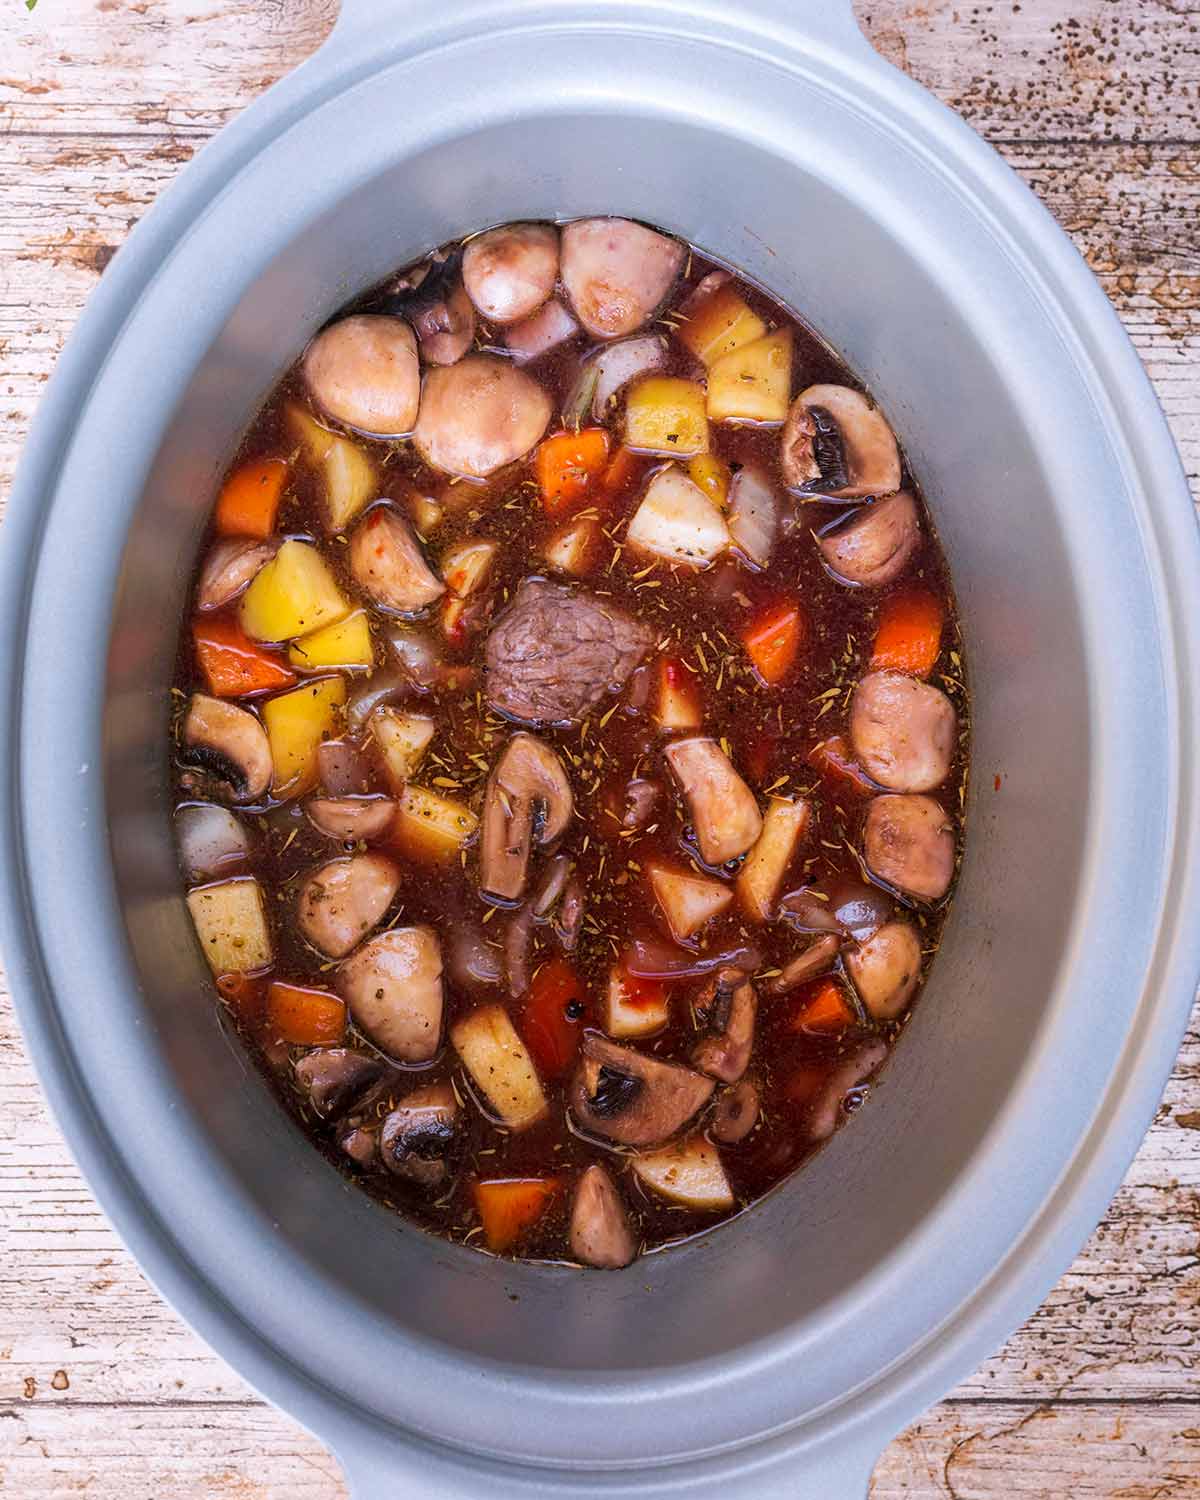
[[[624,687],[651,642],[609,600],[525,579],[488,636],[488,702],[525,724],[582,718]]]

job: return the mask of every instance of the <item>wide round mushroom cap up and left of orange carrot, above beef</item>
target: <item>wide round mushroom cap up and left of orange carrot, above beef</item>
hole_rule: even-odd
[[[426,374],[412,442],[444,474],[486,478],[525,458],[552,411],[549,393],[510,360],[466,354]]]

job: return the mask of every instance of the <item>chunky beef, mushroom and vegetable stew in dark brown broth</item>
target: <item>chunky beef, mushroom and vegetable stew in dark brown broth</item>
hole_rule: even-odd
[[[938,948],[968,700],[916,480],[804,322],[640,224],[490,230],[316,334],[174,704],[214,1004],[453,1240],[618,1268],[738,1214]]]

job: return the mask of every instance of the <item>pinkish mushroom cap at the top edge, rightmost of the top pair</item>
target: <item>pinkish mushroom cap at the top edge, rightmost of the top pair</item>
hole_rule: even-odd
[[[632,219],[578,219],[562,230],[562,285],[584,327],[620,339],[666,300],[684,248]]]

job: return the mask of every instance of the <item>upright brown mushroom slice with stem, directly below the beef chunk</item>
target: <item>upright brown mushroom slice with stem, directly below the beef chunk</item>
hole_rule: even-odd
[[[525,890],[534,842],[561,837],[574,810],[572,784],[550,746],[519,730],[488,777],[483,798],[480,885],[502,900]]]

